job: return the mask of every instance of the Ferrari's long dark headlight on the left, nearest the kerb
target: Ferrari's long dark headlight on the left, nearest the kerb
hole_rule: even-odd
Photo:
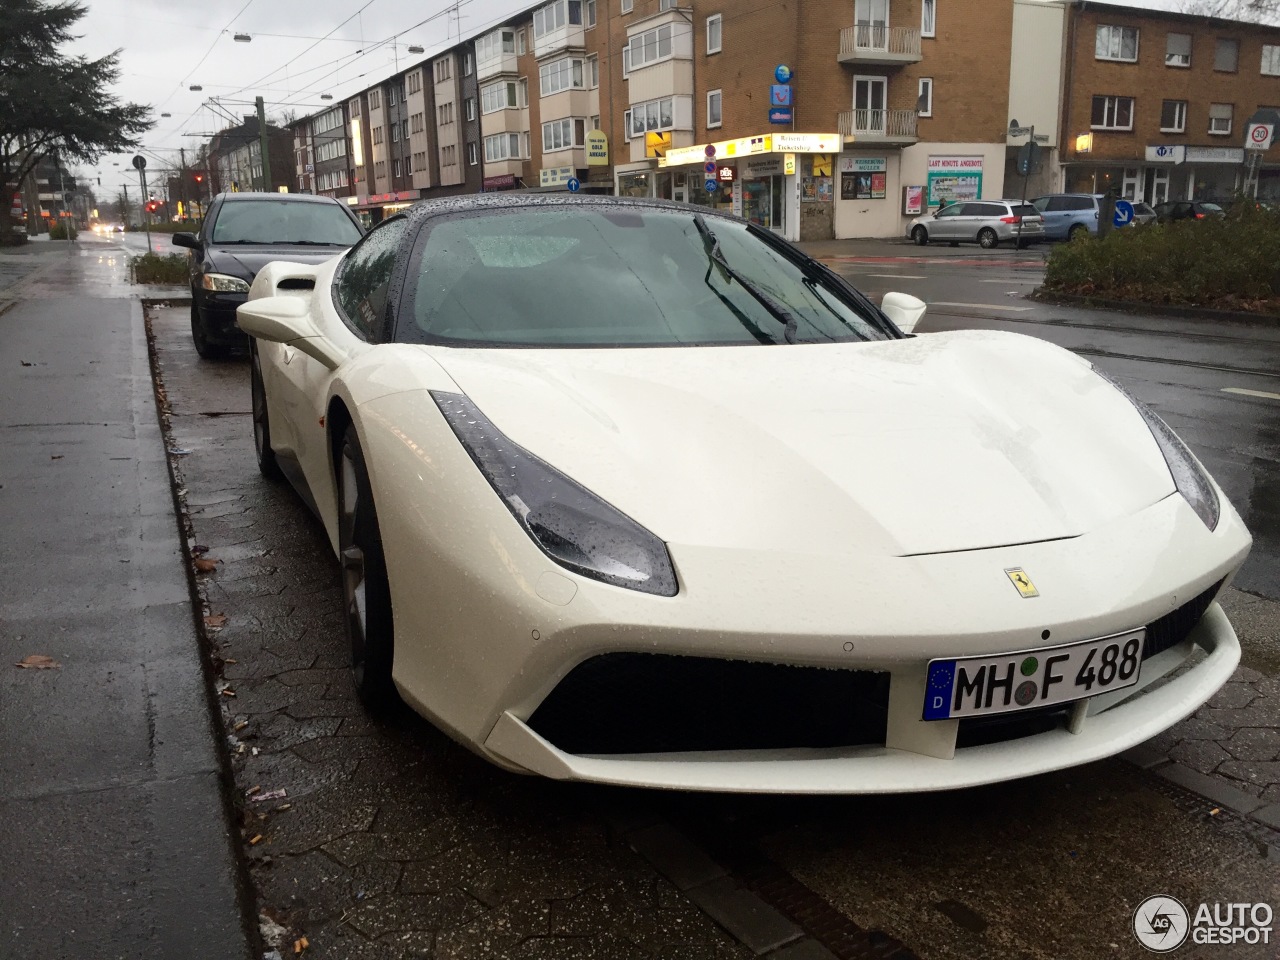
[[[508,440],[468,398],[438,390],[431,397],[485,480],[548,557],[593,580],[676,595],[676,571],[662,540]]]

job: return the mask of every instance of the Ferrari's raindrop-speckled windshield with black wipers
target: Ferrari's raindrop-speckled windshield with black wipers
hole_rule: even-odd
[[[890,338],[817,265],[732,220],[704,218],[709,239],[696,214],[548,206],[435,220],[417,261],[415,323],[399,335],[534,347]]]

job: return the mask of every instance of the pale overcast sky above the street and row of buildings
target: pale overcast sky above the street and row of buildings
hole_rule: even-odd
[[[741,0],[726,0],[726,3]],[[1176,9],[1179,0],[1128,0],[1135,6]],[[616,3],[616,0],[600,0]],[[156,125],[146,134],[147,169],[188,159],[228,116],[253,111],[266,100],[268,116],[306,115],[396,72],[424,55],[410,45],[444,49],[531,0],[87,0],[72,52],[96,58],[120,49],[122,100],[148,104]],[[840,6],[852,6],[840,0]],[[236,33],[253,40],[237,44]],[[320,40],[321,37],[328,37]],[[188,90],[200,84],[202,91]],[[221,110],[206,105],[216,99]],[[172,116],[161,118],[161,113]],[[204,136],[188,136],[204,134]],[[105,156],[86,177],[101,175],[99,200],[113,200],[120,183],[138,182],[132,154]],[[116,166],[119,164],[119,166]]]

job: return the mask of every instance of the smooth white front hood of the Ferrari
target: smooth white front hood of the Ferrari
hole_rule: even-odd
[[[507,436],[673,547],[969,550],[1078,536],[1174,493],[1133,404],[1016,334],[422,349]]]

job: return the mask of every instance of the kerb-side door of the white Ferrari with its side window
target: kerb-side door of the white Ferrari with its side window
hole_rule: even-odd
[[[332,297],[338,315],[325,329],[340,347],[358,348],[381,339],[388,307],[388,291],[399,255],[401,239],[408,220],[403,216],[387,220],[343,257],[334,275],[333,288],[316,289],[312,315],[319,320]],[[323,420],[328,403],[329,379],[333,371],[317,360],[283,344],[276,376],[276,407],[289,430],[289,445],[312,490],[324,489],[329,472],[328,435]],[[270,387],[269,387],[270,389]],[[274,407],[273,407],[274,408]]]

